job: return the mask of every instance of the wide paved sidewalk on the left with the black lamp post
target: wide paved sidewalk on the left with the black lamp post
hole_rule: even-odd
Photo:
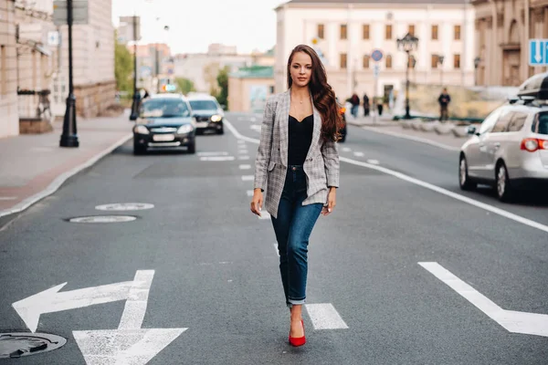
[[[127,113],[115,118],[79,118],[79,148],[58,147],[63,122],[54,122],[53,128],[50,133],[0,139],[0,225],[2,217],[22,212],[55,193],[69,177],[132,138]]]

